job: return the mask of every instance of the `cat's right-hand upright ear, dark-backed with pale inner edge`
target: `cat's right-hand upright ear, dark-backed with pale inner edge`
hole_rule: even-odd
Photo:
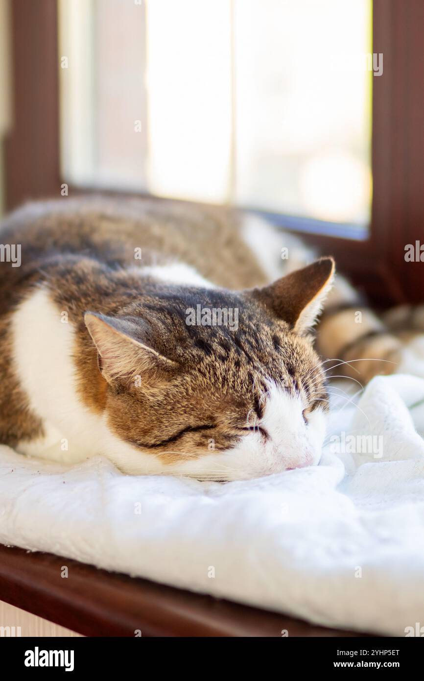
[[[321,312],[334,278],[334,260],[323,257],[301,270],[290,272],[270,286],[251,291],[267,309],[289,323],[298,334],[307,333]]]

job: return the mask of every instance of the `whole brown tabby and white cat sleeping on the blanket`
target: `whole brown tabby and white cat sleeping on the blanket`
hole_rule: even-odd
[[[20,266],[0,264],[1,443],[223,481],[319,462],[329,365],[310,331],[331,258],[302,267],[297,239],[255,217],[147,199],[30,204],[0,240],[20,247]],[[403,346],[357,310],[338,277],[317,347],[362,358],[368,380]]]

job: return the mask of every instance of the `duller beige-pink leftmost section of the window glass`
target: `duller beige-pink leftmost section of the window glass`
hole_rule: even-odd
[[[59,1],[65,180],[147,188],[145,34],[144,5]]]

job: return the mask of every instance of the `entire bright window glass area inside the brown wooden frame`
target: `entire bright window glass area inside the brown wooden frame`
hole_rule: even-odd
[[[371,7],[60,0],[65,179],[368,223]]]

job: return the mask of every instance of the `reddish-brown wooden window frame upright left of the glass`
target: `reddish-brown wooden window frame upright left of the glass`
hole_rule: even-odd
[[[56,0],[12,0],[12,129],[5,140],[6,208],[60,195]]]

